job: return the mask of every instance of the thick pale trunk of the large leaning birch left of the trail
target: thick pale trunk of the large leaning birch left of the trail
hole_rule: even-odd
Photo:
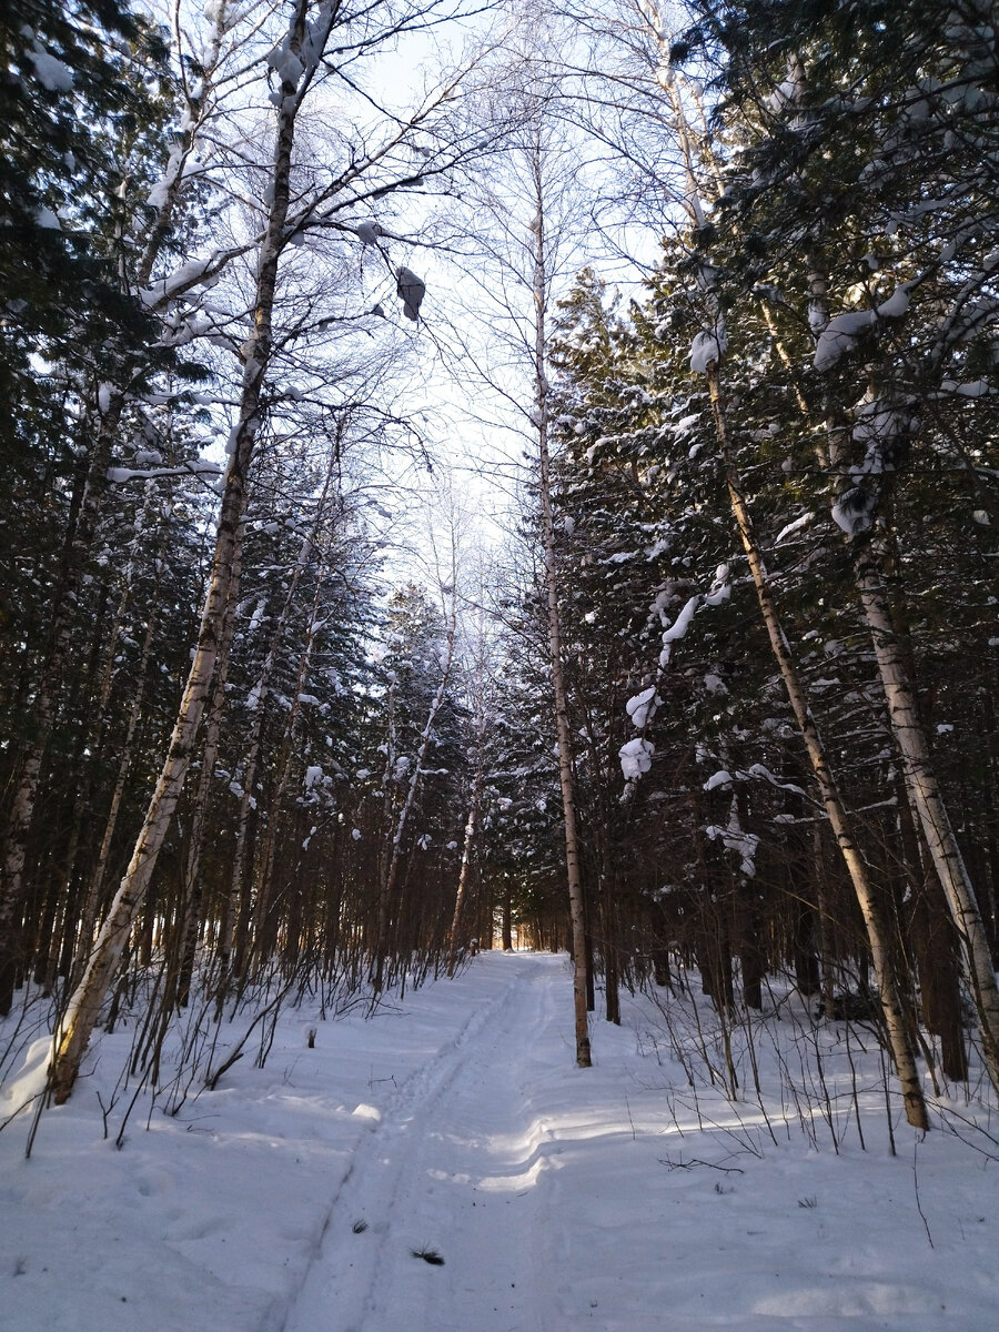
[[[301,49],[305,9],[304,0],[300,0],[292,40],[292,48],[296,53]],[[97,1022],[104,995],[121,958],[136,912],[149,887],[160,850],[184,789],[221,646],[225,609],[229,597],[234,593],[236,558],[242,538],[241,523],[246,503],[246,476],[260,424],[257,413],[261,385],[272,350],[277,266],[288,217],[292,147],[298,107],[296,87],[292,83],[282,83],[281,92],[272,176],[273,201],[257,269],[254,332],[242,374],[238,417],[232,436],[232,456],[225,474],[214,559],[197,646],[166,759],[136,840],[132,860],[56,1035],[56,1054],[49,1075],[49,1087],[57,1104],[65,1102],[72,1092],[80,1060]]]

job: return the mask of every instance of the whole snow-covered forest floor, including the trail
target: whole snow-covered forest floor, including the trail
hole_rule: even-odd
[[[262,1070],[176,1116],[140,1095],[120,1148],[105,1036],[31,1160],[0,1132],[0,1328],[994,1332],[996,1123],[952,1102],[960,1136],[918,1142],[895,1111],[892,1156],[872,1046],[823,1031],[817,1083],[789,1016],[733,1102],[677,1059],[689,1010],[626,998],[578,1070],[566,959],[482,954],[369,1020],[289,1010]]]

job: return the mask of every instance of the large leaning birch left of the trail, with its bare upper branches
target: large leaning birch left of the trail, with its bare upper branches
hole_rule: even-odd
[[[222,646],[225,607],[233,593],[249,472],[265,410],[268,372],[286,336],[281,325],[282,258],[289,245],[305,236],[349,233],[360,245],[377,240],[381,232],[372,221],[365,222],[358,217],[360,209],[370,208],[376,198],[393,192],[416,190],[426,188],[436,178],[448,178],[457,161],[477,147],[464,139],[464,127],[450,105],[465,69],[454,71],[405,119],[386,116],[378,124],[374,117],[376,124],[369,123],[362,128],[360,144],[349,145],[350,135],[344,136],[344,147],[349,147],[349,152],[332,172],[320,170],[314,156],[310,159],[308,153],[298,153],[300,129],[308,115],[305,108],[320,105],[321,97],[328,96],[328,85],[332,88],[333,81],[341,76],[349,87],[352,80],[348,69],[352,63],[362,60],[369,52],[408,31],[432,27],[446,12],[449,11],[434,4],[404,4],[385,12],[353,11],[336,0],[321,4],[296,0],[284,7],[286,27],[268,56],[268,68],[273,71],[269,93],[273,105],[273,156],[265,190],[264,226],[252,249],[249,336],[240,346],[244,369],[229,434],[229,462],[198,638],[169,753],[132,860],[57,1034],[51,1078],[57,1100],[64,1100],[72,1090],[104,994],[156,867],[208,703]],[[333,47],[336,55],[332,55]],[[433,147],[425,149],[425,137],[429,137]],[[308,147],[308,140],[305,143]],[[410,148],[416,143],[421,148],[418,155]],[[301,182],[297,173],[301,173]],[[210,266],[202,264],[189,277],[185,274],[176,281],[166,281],[164,290],[176,297],[181,288],[204,282]]]

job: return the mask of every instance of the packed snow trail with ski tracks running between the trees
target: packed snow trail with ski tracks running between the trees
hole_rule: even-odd
[[[553,1134],[531,1112],[565,971],[517,968],[372,1120],[281,1332],[545,1332]],[[547,976],[545,976],[547,972]],[[545,983],[547,980],[549,983]],[[534,983],[531,983],[534,982]],[[537,983],[541,982],[541,983]],[[362,1232],[356,1223],[365,1223]],[[432,1265],[413,1255],[432,1249]]]

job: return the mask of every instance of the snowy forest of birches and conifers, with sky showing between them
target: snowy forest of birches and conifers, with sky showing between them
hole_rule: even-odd
[[[52,1032],[57,1102],[125,1012],[156,1086],[181,1015],[514,942],[583,1066],[622,987],[794,988],[911,1124],[999,1091],[995,5],[542,9],[5,5],[0,1074]]]

